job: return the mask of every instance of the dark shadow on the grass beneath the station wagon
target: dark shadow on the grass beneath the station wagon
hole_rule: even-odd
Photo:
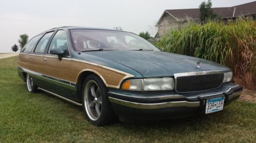
[[[70,112],[76,112],[79,113],[80,118],[82,117],[84,121],[81,121],[80,118],[77,122],[88,122],[86,118],[84,118],[82,107],[76,106],[68,101],[59,99],[51,94],[45,93],[45,92],[39,92],[38,95],[45,96],[44,98],[47,98],[47,100],[52,103],[56,103],[56,106],[59,106],[58,104],[61,104],[62,106],[65,106],[65,108],[68,108]],[[115,124],[103,126],[103,127],[95,127],[95,128],[104,128],[106,130],[118,127],[123,128],[124,130],[130,130],[130,131],[144,131],[148,129],[154,129],[154,128],[161,128],[161,129],[175,129],[175,130],[201,130],[202,128],[204,130],[207,130],[207,126],[217,126],[219,124],[225,124],[227,123],[230,118],[232,118],[232,115],[229,115],[229,111],[226,110],[228,106],[224,107],[224,110],[210,113],[208,115],[195,115],[191,117],[186,118],[179,118],[179,119],[166,119],[166,120],[154,120],[150,122],[143,122],[143,121],[129,121],[122,123],[118,121]],[[68,114],[67,114],[68,115]]]

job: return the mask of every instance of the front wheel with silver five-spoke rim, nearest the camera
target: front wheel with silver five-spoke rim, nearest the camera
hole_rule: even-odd
[[[87,120],[96,126],[108,125],[117,119],[108,99],[108,89],[97,75],[89,75],[84,80],[82,105]]]

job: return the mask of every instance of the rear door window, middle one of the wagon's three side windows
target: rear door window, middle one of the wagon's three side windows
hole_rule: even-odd
[[[52,34],[53,32],[47,33],[44,35],[44,37],[41,38],[41,40],[38,42],[38,44],[35,47],[35,51],[34,51],[35,53],[45,53],[47,43],[51,38]]]

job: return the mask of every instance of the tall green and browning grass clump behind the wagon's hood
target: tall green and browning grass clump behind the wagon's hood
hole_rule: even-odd
[[[232,69],[233,80],[249,89],[256,86],[256,21],[237,19],[188,23],[181,30],[169,31],[157,46],[172,53],[195,56]]]

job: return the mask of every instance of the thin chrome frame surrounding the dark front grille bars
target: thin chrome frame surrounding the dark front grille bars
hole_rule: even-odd
[[[193,76],[193,75],[206,75],[206,74],[217,74],[217,73],[224,73],[224,71],[198,71],[198,72],[184,72],[184,73],[175,73],[174,74],[174,90],[177,92],[177,77],[181,76]],[[222,85],[222,84],[221,84]],[[215,89],[218,89],[221,87],[221,85]],[[209,89],[212,90],[212,89]],[[208,90],[204,90],[208,91]],[[182,92],[182,93],[195,93],[195,92],[202,92],[202,91],[194,91],[194,92]],[[181,93],[181,92],[177,92]]]

